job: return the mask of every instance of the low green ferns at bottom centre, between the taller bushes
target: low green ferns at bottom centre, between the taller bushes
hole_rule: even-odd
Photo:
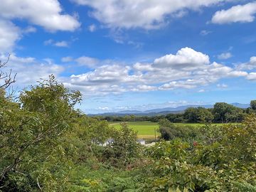
[[[70,174],[70,191],[141,191],[141,170],[107,169],[97,162],[81,164]]]

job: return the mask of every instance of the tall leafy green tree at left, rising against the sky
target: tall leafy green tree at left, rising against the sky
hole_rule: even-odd
[[[80,92],[50,75],[19,98],[18,103],[0,98],[0,189],[63,191],[56,189],[68,169],[61,139],[76,122]]]

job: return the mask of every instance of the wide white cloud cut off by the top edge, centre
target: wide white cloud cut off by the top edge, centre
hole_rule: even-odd
[[[187,9],[198,10],[228,0],[73,0],[90,6],[90,15],[111,28],[159,28],[171,17],[181,17]]]

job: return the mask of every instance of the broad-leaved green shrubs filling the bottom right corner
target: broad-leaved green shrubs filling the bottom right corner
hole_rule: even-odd
[[[215,132],[215,127],[203,127],[204,140],[192,147],[176,139],[156,144],[148,149],[154,163],[144,180],[145,191],[253,190],[255,127],[256,117],[250,116],[243,124],[230,124]]]

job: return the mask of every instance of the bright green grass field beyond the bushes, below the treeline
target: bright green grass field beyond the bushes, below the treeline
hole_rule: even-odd
[[[115,128],[120,127],[120,122],[109,122],[109,124]],[[154,139],[155,129],[159,129],[159,125],[156,122],[127,122],[128,126],[138,133],[138,137],[141,139]],[[184,126],[202,127],[204,124],[199,123],[176,123]],[[222,124],[216,124],[222,125]],[[156,132],[156,137],[159,136],[159,132]]]

